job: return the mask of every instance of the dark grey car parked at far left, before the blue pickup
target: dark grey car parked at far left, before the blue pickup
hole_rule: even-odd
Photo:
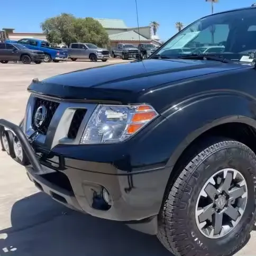
[[[18,43],[0,43],[0,62],[22,61],[24,64],[35,62],[42,63],[44,53],[42,51],[30,50]]]

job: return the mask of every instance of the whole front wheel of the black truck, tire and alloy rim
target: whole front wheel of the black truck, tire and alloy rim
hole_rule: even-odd
[[[233,255],[250,237],[255,220],[256,156],[228,139],[201,149],[175,170],[159,213],[158,237],[179,256],[190,250],[191,255]]]

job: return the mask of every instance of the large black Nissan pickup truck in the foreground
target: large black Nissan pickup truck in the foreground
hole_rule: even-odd
[[[148,59],[33,79],[23,121],[0,120],[3,150],[68,207],[177,256],[233,255],[255,222],[255,24],[255,7],[217,13]]]

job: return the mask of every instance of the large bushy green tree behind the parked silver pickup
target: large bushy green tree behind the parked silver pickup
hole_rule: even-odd
[[[99,47],[108,45],[108,34],[103,26],[93,18],[76,18],[72,14],[61,13],[41,23],[43,33],[52,44],[74,42],[94,43]]]

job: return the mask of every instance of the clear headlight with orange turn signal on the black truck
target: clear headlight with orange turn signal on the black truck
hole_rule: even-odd
[[[150,105],[98,105],[88,121],[80,144],[125,141],[158,115]]]

